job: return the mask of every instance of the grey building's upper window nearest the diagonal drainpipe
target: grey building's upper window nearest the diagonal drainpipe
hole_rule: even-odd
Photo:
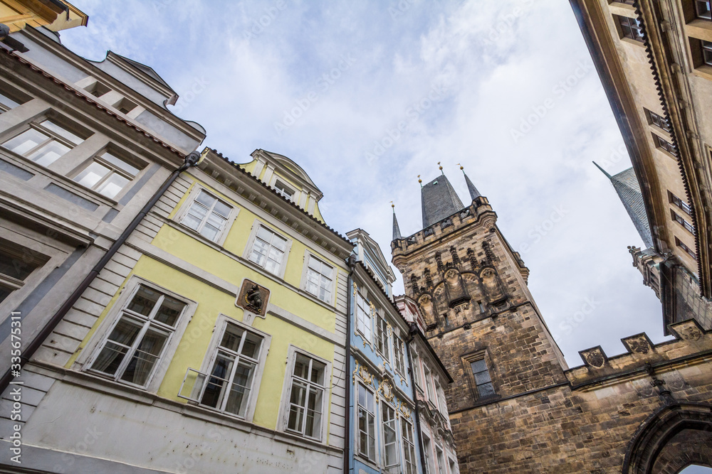
[[[139,168],[105,151],[80,171],[74,181],[113,199],[139,171]]]

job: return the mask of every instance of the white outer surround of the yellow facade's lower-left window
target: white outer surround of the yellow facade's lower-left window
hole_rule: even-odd
[[[182,313],[178,316],[173,332],[168,336],[163,350],[144,385],[132,384],[131,382],[117,379],[117,377],[112,377],[111,375],[99,372],[98,370],[92,370],[91,368],[101,350],[104,348],[104,345],[111,335],[113,328],[121,320],[124,308],[132,301],[132,298],[140,286],[146,286],[147,288],[158,291],[159,293],[164,293],[164,295],[171,296],[172,298],[182,301],[185,304]],[[77,363],[80,364],[81,370],[95,374],[98,377],[111,379],[117,384],[137,387],[147,390],[148,392],[157,392],[162,379],[168,370],[168,365],[173,358],[183,333],[185,332],[185,328],[192,319],[193,313],[197,308],[197,303],[185,298],[184,296],[174,293],[173,291],[165,289],[162,286],[154,284],[151,281],[142,279],[139,276],[132,276],[132,279],[128,281],[124,289],[120,289],[119,291],[121,295],[117,298],[102,323],[100,323],[100,326],[93,337],[94,342],[85,349],[84,357],[78,357]]]

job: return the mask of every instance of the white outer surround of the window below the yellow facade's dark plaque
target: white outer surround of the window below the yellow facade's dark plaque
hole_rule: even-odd
[[[250,389],[250,395],[249,395],[249,398],[247,401],[247,410],[246,410],[245,416],[239,416],[238,414],[234,414],[229,411],[223,411],[221,409],[214,408],[212,406],[207,406],[207,405],[201,404],[200,400],[203,398],[206,382],[204,382],[204,386],[201,387],[200,393],[197,394],[197,399],[195,399],[194,401],[197,402],[198,404],[200,404],[200,406],[203,406],[205,409],[219,411],[219,412],[224,413],[228,416],[236,416],[239,419],[244,419],[246,421],[251,422],[255,416],[255,408],[257,406],[257,399],[259,397],[260,387],[262,384],[264,368],[265,368],[265,364],[267,362],[267,354],[269,352],[269,348],[272,343],[272,336],[269,335],[268,333],[264,333],[261,330],[257,330],[250,325],[244,324],[241,321],[236,321],[236,319],[231,318],[230,316],[226,316],[221,313],[218,316],[218,319],[215,323],[215,328],[213,331],[212,338],[210,340],[210,344],[208,345],[208,349],[205,352],[205,357],[203,359],[203,363],[200,367],[200,372],[202,374],[205,374],[207,377],[210,377],[210,371],[213,368],[213,365],[217,358],[219,346],[222,341],[223,334],[225,333],[225,330],[227,329],[227,326],[229,324],[235,325],[242,330],[246,330],[246,331],[250,331],[251,333],[255,333],[256,335],[259,335],[262,338],[262,347],[260,349],[260,354],[257,357],[257,367],[256,367],[256,370],[255,370],[255,373],[253,376],[253,380],[252,380],[252,387]]]

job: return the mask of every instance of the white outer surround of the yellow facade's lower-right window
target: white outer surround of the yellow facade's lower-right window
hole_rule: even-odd
[[[289,422],[289,410],[290,410],[290,396],[292,392],[292,377],[294,374],[294,364],[296,362],[297,354],[303,355],[304,357],[309,357],[310,359],[321,362],[325,365],[324,367],[324,395],[322,397],[322,412],[321,412],[321,427],[319,438],[312,438],[310,436],[304,436],[295,431],[287,429]],[[287,367],[284,372],[284,382],[282,385],[282,398],[279,406],[278,412],[278,430],[284,433],[289,433],[293,436],[300,436],[306,439],[317,441],[319,443],[325,444],[329,429],[329,419],[331,416],[330,400],[331,400],[331,362],[328,360],[314,355],[311,352],[300,349],[295,345],[289,345],[287,350]]]

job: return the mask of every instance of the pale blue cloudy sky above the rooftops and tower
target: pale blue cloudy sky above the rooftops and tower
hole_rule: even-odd
[[[390,201],[422,227],[417,176],[437,162],[467,201],[486,195],[529,267],[530,289],[570,366],[577,351],[645,331],[659,301],[627,246],[641,246],[610,173],[630,166],[568,2],[561,0],[74,0],[88,28],[62,33],[91,60],[151,65],[174,112],[237,162],[289,156],[324,193],[342,233],[385,252]],[[402,291],[402,279],[396,284]]]

